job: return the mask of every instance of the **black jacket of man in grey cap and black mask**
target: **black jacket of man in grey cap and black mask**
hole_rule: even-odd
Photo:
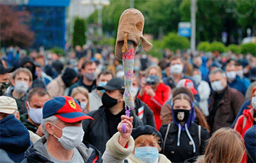
[[[91,116],[94,120],[82,120],[82,128],[85,131],[83,142],[89,142],[97,147],[97,150],[104,153],[106,143],[112,136],[108,129],[105,107],[100,106],[97,111],[88,113],[88,116]],[[139,125],[144,125],[142,120],[140,120],[138,116],[134,116],[132,112],[130,113],[130,116],[134,117],[132,123],[134,128],[137,128]]]

